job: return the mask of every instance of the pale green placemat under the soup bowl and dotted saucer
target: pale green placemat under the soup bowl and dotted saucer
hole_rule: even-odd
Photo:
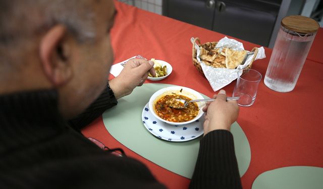
[[[127,148],[165,169],[191,178],[201,137],[187,142],[164,141],[150,134],[142,123],[142,110],[150,96],[169,86],[173,85],[144,84],[137,87],[131,95],[119,99],[117,106],[103,113],[103,122],[106,130]],[[231,132],[242,176],[250,163],[250,146],[237,122],[232,125]]]

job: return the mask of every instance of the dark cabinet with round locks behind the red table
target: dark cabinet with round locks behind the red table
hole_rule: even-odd
[[[164,0],[163,15],[268,46],[282,1]]]

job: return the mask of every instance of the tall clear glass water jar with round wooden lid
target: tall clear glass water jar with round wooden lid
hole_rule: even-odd
[[[318,28],[318,23],[308,17],[283,18],[264,77],[268,88],[278,92],[295,88]]]

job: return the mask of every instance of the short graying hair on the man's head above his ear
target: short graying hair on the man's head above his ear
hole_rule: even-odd
[[[95,38],[90,0],[0,0],[0,45],[19,43],[56,24],[65,25],[79,42]]]

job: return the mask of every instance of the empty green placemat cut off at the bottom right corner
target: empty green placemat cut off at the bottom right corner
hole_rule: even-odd
[[[323,168],[310,166],[282,167],[260,174],[252,189],[323,188]]]

